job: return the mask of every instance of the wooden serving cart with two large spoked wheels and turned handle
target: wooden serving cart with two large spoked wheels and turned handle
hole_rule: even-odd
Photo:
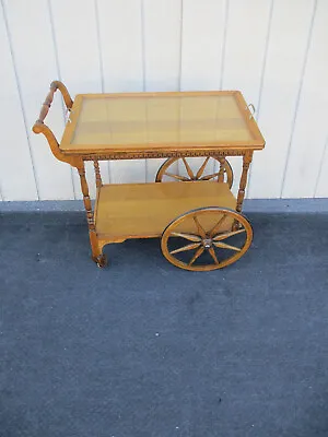
[[[44,123],[57,90],[69,115],[60,144]],[[238,91],[79,94],[73,102],[61,82],[51,83],[33,131],[79,172],[98,267],[103,247],[127,238],[161,237],[164,257],[192,271],[223,268],[248,250],[253,231],[241,212],[253,153],[265,146],[250,107]],[[237,198],[226,156],[243,157]],[[154,182],[102,181],[99,161],[162,157]],[[95,169],[94,211],[85,161]]]

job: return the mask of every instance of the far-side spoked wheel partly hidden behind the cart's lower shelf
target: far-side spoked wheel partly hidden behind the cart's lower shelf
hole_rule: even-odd
[[[174,169],[175,163],[183,163],[183,174],[179,175]],[[216,165],[219,164],[219,166]],[[195,180],[213,180],[220,181],[220,161],[216,157],[208,156],[204,161],[199,164],[198,157],[172,157],[166,160],[160,167],[156,175],[156,182],[166,182],[178,180],[183,182],[189,182]],[[195,169],[196,168],[196,169]],[[234,181],[234,175],[230,163],[224,160],[223,164],[223,182],[229,184],[231,188]]]

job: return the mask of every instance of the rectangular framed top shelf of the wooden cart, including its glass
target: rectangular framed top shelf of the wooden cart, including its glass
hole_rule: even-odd
[[[79,94],[67,154],[260,150],[265,140],[238,91]]]

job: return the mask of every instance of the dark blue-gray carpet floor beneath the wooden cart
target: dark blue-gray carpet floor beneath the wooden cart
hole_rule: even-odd
[[[0,215],[1,437],[328,436],[328,215],[249,214],[237,263],[90,260],[84,215]]]

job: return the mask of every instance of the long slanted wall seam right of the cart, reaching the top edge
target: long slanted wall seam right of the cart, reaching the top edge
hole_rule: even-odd
[[[293,119],[292,119],[292,123],[291,123],[291,134],[290,134],[286,157],[285,157],[285,163],[284,163],[284,169],[283,169],[283,176],[282,176],[282,181],[281,181],[281,190],[280,190],[281,198],[282,198],[283,189],[284,189],[284,185],[285,185],[285,178],[286,178],[289,161],[290,161],[291,150],[292,150],[292,142],[293,142],[294,133],[295,133],[296,118],[297,118],[301,95],[302,95],[302,90],[303,90],[304,75],[305,75],[305,71],[306,71],[306,67],[307,67],[307,62],[308,62],[308,52],[309,52],[309,48],[312,45],[312,37],[313,37],[316,11],[317,11],[317,0],[314,0],[312,17],[311,17],[309,28],[308,28],[308,35],[307,35],[307,40],[306,40],[306,47],[305,47],[305,52],[304,52],[304,60],[303,60],[303,66],[302,66],[302,70],[301,70],[301,80],[300,80],[300,85],[298,85],[297,95],[296,95]]]

